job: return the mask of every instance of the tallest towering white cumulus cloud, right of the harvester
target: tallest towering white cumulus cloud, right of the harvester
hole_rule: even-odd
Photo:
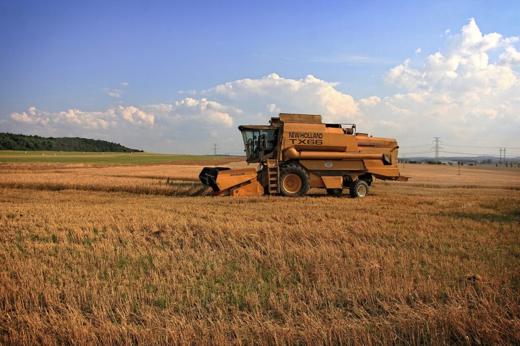
[[[520,79],[514,69],[520,61],[514,47],[517,41],[498,33],[483,34],[471,19],[447,38],[444,49],[422,64],[412,66],[406,60],[384,75],[387,83],[404,89],[404,94],[387,97],[378,105],[360,102],[362,111],[370,119],[396,117],[406,124],[405,138],[410,131],[425,137],[435,132],[469,138],[501,131],[514,137],[520,130],[515,110],[520,106]],[[490,51],[499,57],[491,58]],[[378,126],[375,122],[374,128]],[[483,128],[492,131],[483,133]]]

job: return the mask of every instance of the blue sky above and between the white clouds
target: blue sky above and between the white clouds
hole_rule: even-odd
[[[410,86],[403,86],[396,79],[388,81],[385,74],[406,59],[410,59],[410,69],[420,69],[428,56],[447,49],[448,37],[460,32],[471,18],[482,35],[518,36],[519,7],[518,2],[478,1],[366,4],[3,1],[0,2],[0,119],[3,119],[0,129],[42,135],[97,135],[147,150],[176,151],[180,144],[168,136],[178,137],[178,132],[184,133],[186,129],[172,128],[174,122],[161,123],[165,115],[153,114],[147,106],[175,104],[190,97],[217,102],[224,107],[220,111],[233,118],[231,130],[224,130],[225,138],[211,134],[211,129],[206,133],[206,137],[213,136],[208,143],[225,142],[233,131],[238,135],[236,126],[240,121],[265,123],[274,114],[266,112],[266,104],[258,104],[255,109],[232,100],[229,95],[223,98],[222,94],[204,94],[203,90],[276,73],[295,81],[312,75],[333,84],[337,92],[352,96],[357,103],[372,96],[383,99],[413,93]],[[517,43],[498,43],[485,50],[490,63],[499,64],[499,56],[507,45],[518,47]],[[418,48],[420,52],[416,53]],[[510,67],[517,77],[518,65],[513,61]],[[197,91],[179,94],[181,90]],[[290,90],[285,92],[288,98],[292,97]],[[517,90],[508,92],[500,102],[518,96]],[[268,97],[265,102],[274,103]],[[279,104],[280,101],[278,108]],[[289,102],[287,106],[290,105]],[[142,143],[122,135],[124,128],[118,125],[110,129],[101,126],[95,131],[92,126],[49,125],[55,113],[69,109],[106,112],[130,106],[155,116],[155,129],[146,129]],[[12,113],[27,112],[30,107],[48,113],[50,122],[36,125],[35,121],[14,121],[11,117]],[[208,107],[213,106],[210,103]],[[226,107],[241,113],[233,116]],[[327,111],[330,107],[322,108]],[[309,113],[316,110],[320,111],[311,109]],[[365,118],[372,118],[367,110],[361,111]],[[203,113],[190,116],[203,120]],[[263,121],[253,116],[257,113],[263,113]],[[332,118],[345,121],[356,118],[347,113],[344,119]],[[176,115],[186,117],[175,110],[168,116]],[[395,114],[378,119],[395,121]],[[514,122],[509,127],[518,129],[514,115],[509,121]],[[377,130],[378,126],[367,123],[370,129]],[[219,127],[217,122],[213,127]],[[156,136],[159,132],[160,136]],[[378,135],[392,136],[392,130],[389,132]],[[445,129],[439,128],[438,132],[441,132],[438,136],[453,136]],[[433,135],[425,133],[419,138],[404,139],[413,145],[420,144],[421,137],[429,142]],[[147,142],[146,138],[155,142]],[[165,142],[159,144],[157,138]],[[236,138],[227,145],[240,145]],[[181,150],[202,151],[205,145],[205,142],[189,145]]]

